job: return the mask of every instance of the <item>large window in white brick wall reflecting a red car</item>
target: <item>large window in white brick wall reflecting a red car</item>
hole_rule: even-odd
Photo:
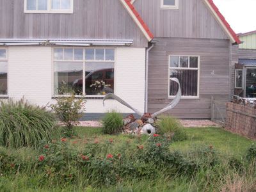
[[[54,48],[54,95],[114,92],[115,49]]]

